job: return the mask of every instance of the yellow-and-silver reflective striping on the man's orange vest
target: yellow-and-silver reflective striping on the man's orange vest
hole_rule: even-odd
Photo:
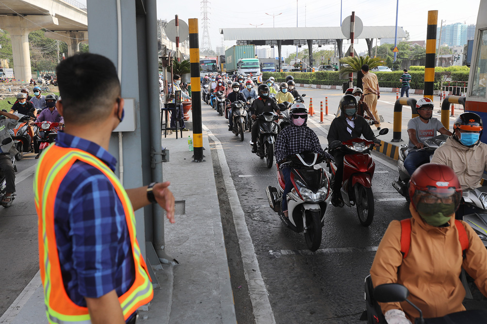
[[[50,145],[42,154],[43,156],[47,156],[47,152],[51,147],[54,147],[54,145]],[[53,181],[56,178],[56,175],[60,169],[62,169],[68,162],[72,161],[73,158],[79,157],[84,160],[88,160],[94,164],[95,167],[98,167],[99,169],[105,170],[106,171],[106,176],[109,177],[112,182],[118,187],[119,191],[122,193],[123,199],[125,200],[125,204],[129,207],[129,217],[131,219],[131,230],[133,233],[133,244],[132,249],[134,252],[133,258],[134,262],[138,263],[136,271],[139,272],[139,274],[145,279],[144,280],[144,285],[139,286],[134,289],[134,291],[131,293],[130,296],[127,296],[127,298],[121,303],[122,311],[124,315],[126,315],[126,312],[130,310],[133,306],[135,306],[139,301],[146,299],[147,297],[150,296],[152,293],[152,284],[150,283],[149,276],[147,275],[146,271],[143,269],[140,259],[142,258],[140,248],[137,244],[136,240],[136,227],[135,227],[135,215],[133,213],[133,208],[131,205],[131,201],[125,191],[125,189],[122,187],[120,181],[116,178],[116,176],[113,174],[112,170],[108,168],[107,165],[105,165],[103,162],[98,161],[96,158],[94,158],[93,155],[89,153],[84,153],[84,152],[79,152],[79,151],[71,151],[65,156],[62,157],[61,160],[57,161],[53,167],[49,170],[48,175],[46,177],[46,181],[44,183],[44,188],[42,190],[42,218],[43,218],[43,224],[42,224],[42,239],[44,243],[44,264],[45,264],[45,275],[44,275],[44,282],[42,283],[44,286],[44,301],[46,304],[46,315],[50,323],[91,323],[90,321],[90,315],[65,315],[65,314],[59,314],[55,310],[53,310],[51,307],[49,307],[49,300],[50,300],[50,293],[51,293],[51,283],[50,283],[50,276],[51,276],[51,263],[49,260],[49,245],[47,242],[47,234],[46,234],[46,225],[45,225],[45,219],[44,215],[46,215],[46,206],[47,206],[47,197],[50,191],[50,188],[52,186]],[[42,162],[42,157],[41,161],[39,161],[38,166],[37,166],[37,171],[39,169],[39,165]],[[36,203],[38,204],[39,202],[39,196],[38,196],[38,190],[37,190],[37,177],[35,178],[34,181],[34,192],[35,192],[35,200]],[[127,224],[129,226],[129,224]]]

